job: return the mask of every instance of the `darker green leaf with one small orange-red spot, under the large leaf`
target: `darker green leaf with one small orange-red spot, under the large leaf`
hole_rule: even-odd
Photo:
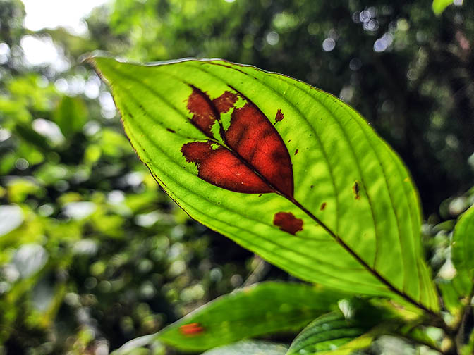
[[[164,328],[158,339],[179,349],[207,350],[246,337],[298,331],[341,297],[309,285],[262,282],[205,304]]]

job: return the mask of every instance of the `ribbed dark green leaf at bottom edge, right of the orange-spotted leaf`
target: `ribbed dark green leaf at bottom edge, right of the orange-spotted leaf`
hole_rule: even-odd
[[[314,320],[293,340],[286,355],[351,354],[372,343],[370,327],[356,320],[346,320],[340,311]]]

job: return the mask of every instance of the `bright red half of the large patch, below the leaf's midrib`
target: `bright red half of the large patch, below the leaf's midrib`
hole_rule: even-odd
[[[217,145],[214,149],[212,145]],[[181,147],[186,161],[196,163],[197,176],[211,184],[236,192],[274,192],[229,149],[212,142],[191,142]]]

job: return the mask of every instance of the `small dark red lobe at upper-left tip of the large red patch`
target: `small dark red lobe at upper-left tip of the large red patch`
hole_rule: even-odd
[[[194,114],[191,122],[207,136],[212,137],[211,128],[216,121],[217,114],[209,97],[204,92],[193,87],[187,107],[190,113]]]

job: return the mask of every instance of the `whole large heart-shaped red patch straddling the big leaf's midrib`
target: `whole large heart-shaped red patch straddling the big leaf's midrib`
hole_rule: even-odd
[[[238,95],[241,94],[226,91],[211,100],[193,87],[188,99],[188,109],[194,113],[193,123],[213,138],[212,125],[216,120],[219,122],[219,113],[233,107]],[[181,148],[186,161],[196,163],[200,178],[236,192],[280,192],[293,199],[293,167],[288,149],[257,106],[248,101],[234,109],[223,138],[230,150],[210,141],[190,142]]]

